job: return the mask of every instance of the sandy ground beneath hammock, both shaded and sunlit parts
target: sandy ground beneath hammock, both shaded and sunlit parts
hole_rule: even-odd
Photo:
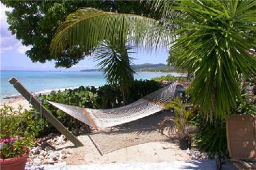
[[[170,112],[161,112],[128,124],[81,135],[83,147],[71,142],[58,147],[72,148],[73,155],[65,159],[69,165],[108,163],[160,163],[191,160],[178,146],[176,135],[159,132],[159,122]]]

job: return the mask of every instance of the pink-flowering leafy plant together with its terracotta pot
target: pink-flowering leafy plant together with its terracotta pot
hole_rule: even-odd
[[[0,169],[24,169],[28,158],[28,147],[35,135],[30,132],[31,121],[26,113],[3,105],[0,109]],[[27,111],[26,111],[27,112]]]

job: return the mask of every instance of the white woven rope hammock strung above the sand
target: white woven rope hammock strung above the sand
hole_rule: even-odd
[[[95,130],[125,124],[150,116],[164,109],[177,94],[177,83],[172,83],[129,105],[113,109],[90,109],[48,101],[54,107],[91,126]]]

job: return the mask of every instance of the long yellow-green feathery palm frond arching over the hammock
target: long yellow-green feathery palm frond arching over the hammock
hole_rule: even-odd
[[[60,25],[50,50],[54,56],[65,52],[69,46],[79,46],[88,52],[94,50],[100,41],[123,45],[127,39],[142,46],[157,46],[169,41],[166,29],[158,25],[157,20],[144,16],[79,8]]]

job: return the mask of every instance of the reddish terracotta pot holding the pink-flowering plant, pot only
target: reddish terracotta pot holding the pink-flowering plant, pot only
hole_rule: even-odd
[[[24,170],[27,162],[29,150],[22,156],[10,158],[10,159],[0,159],[0,169],[1,170]]]

